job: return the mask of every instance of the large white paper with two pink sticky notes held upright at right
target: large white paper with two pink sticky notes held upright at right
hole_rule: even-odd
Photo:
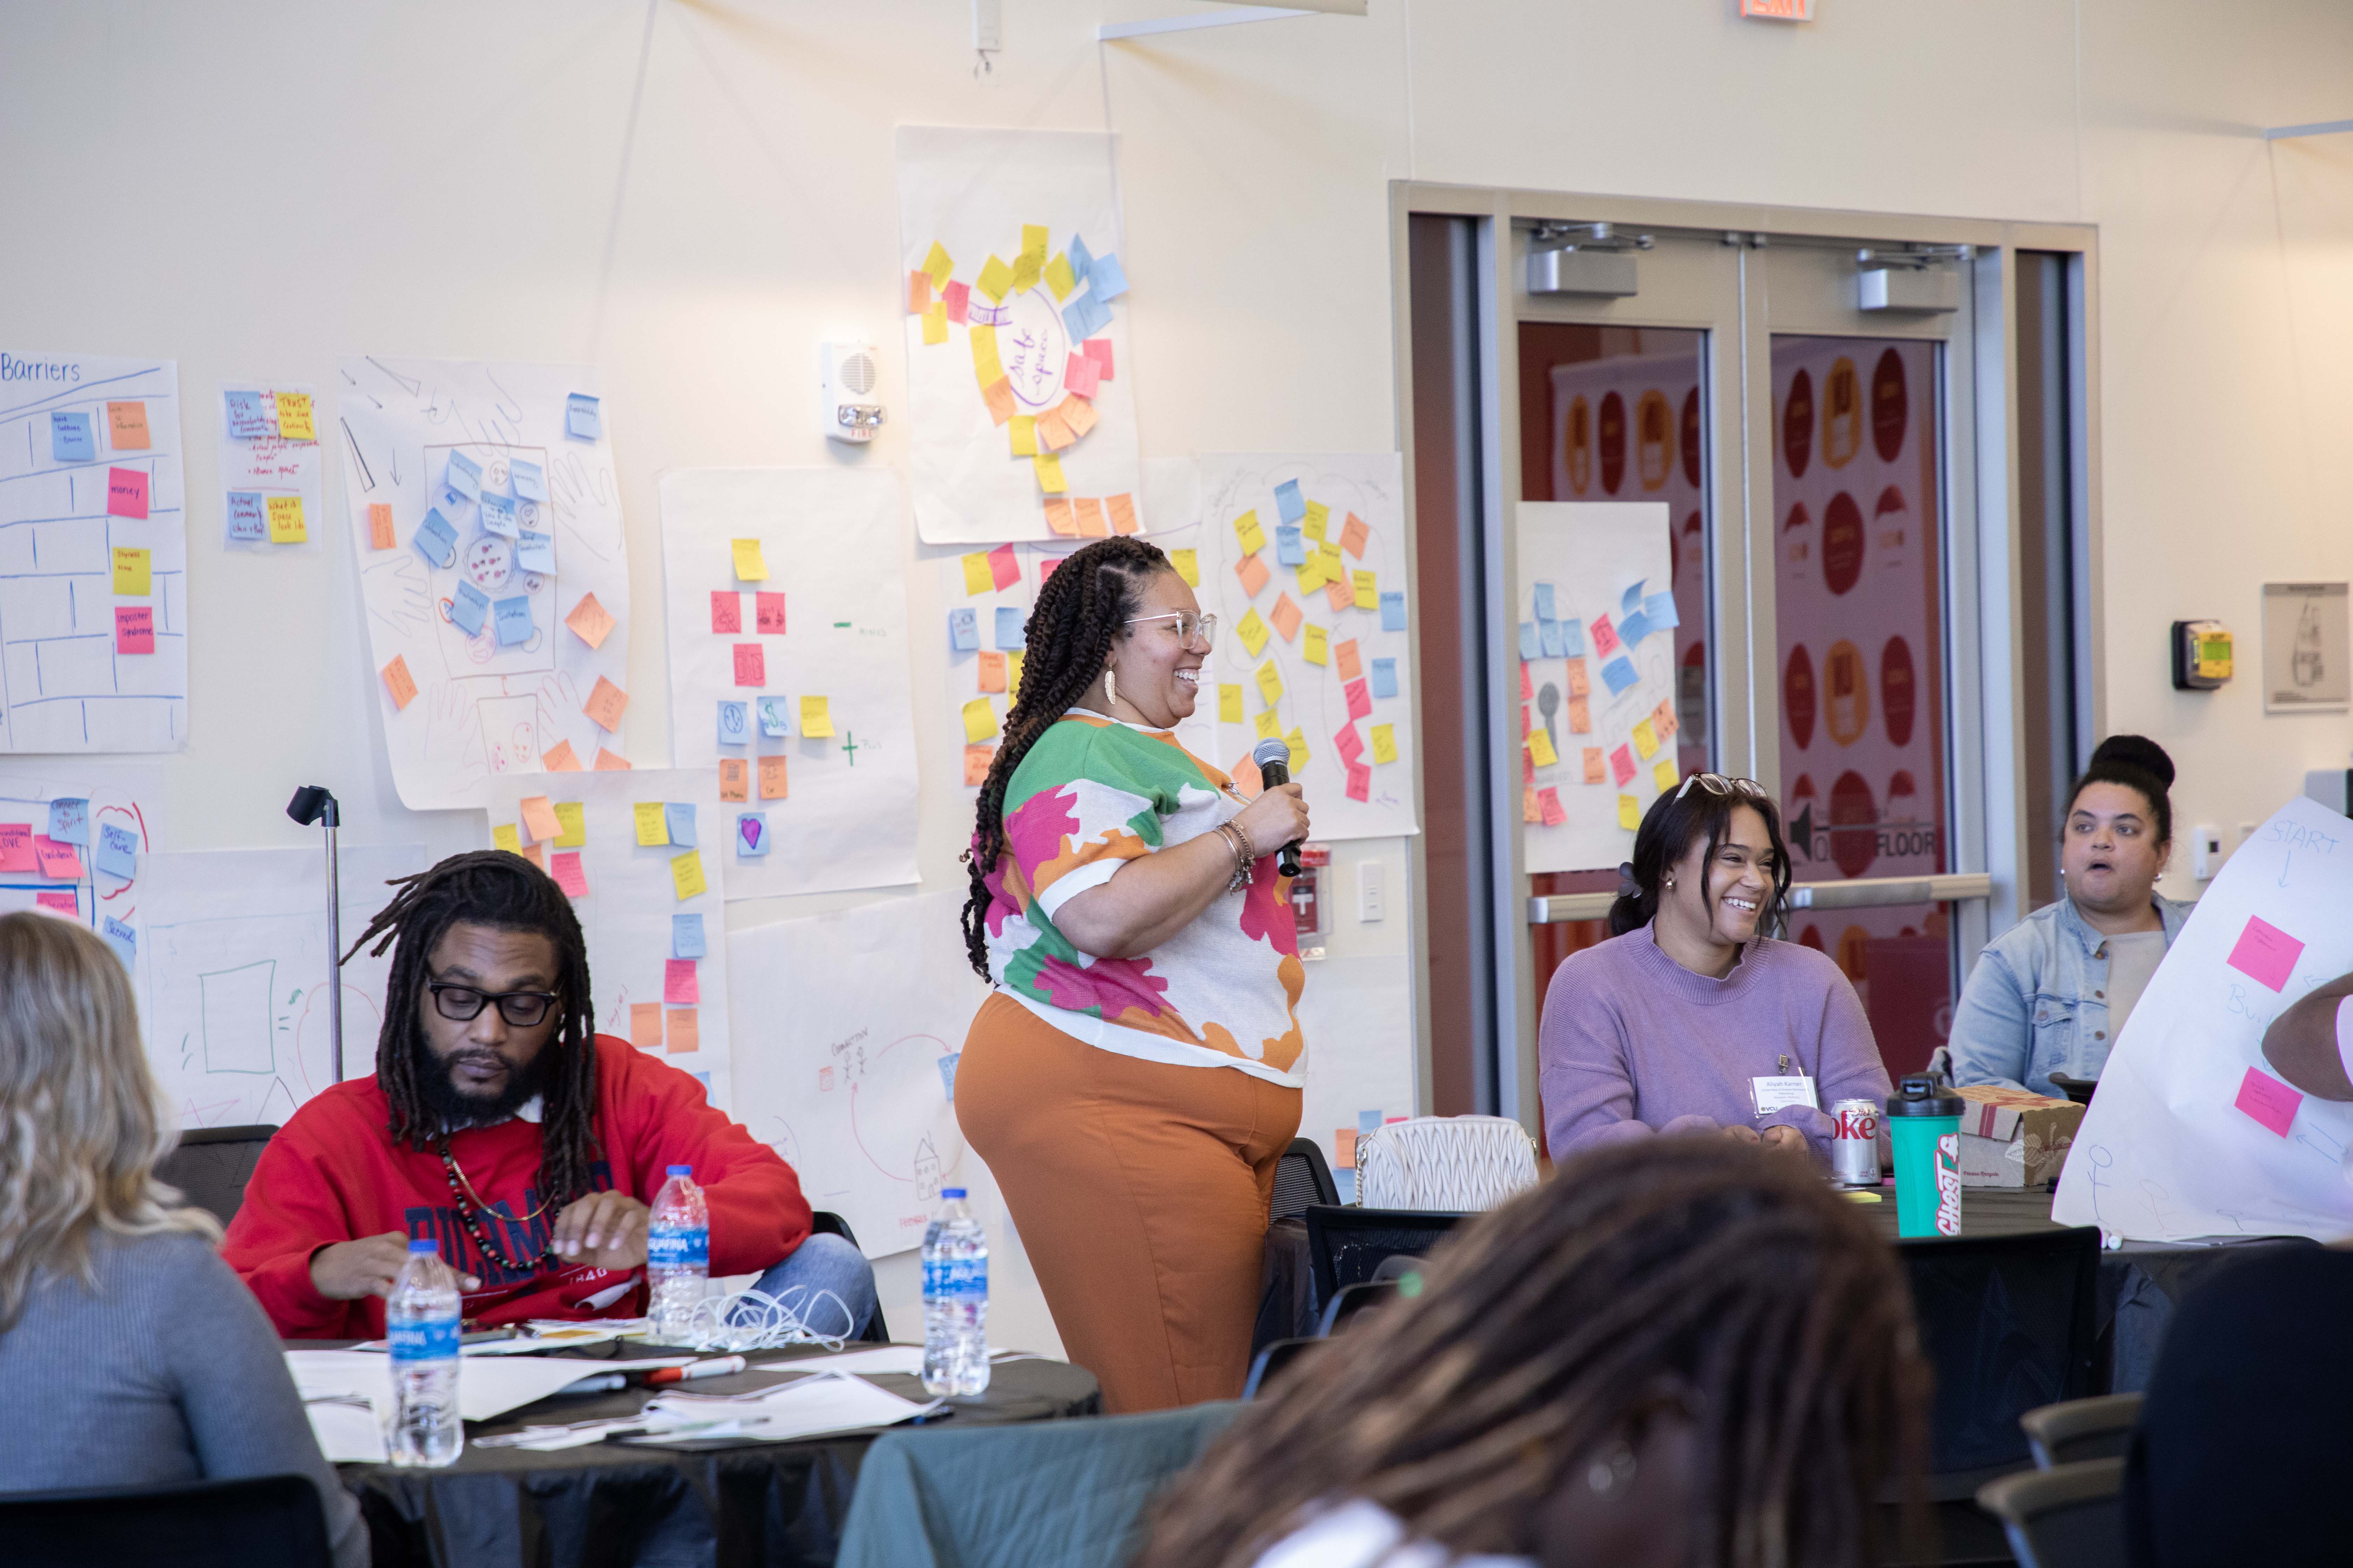
[[[2052,1218],[2129,1241],[2353,1232],[2353,1105],[2299,1095],[2264,1060],[2271,1020],[2346,971],[2353,823],[2299,797],[2240,844],[2165,950],[2099,1074]],[[2240,1110],[2249,1074],[2292,1107],[2285,1133]]]

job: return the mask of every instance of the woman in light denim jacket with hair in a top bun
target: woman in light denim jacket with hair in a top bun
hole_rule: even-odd
[[[2059,832],[2066,898],[1993,940],[1960,987],[1953,1081],[2057,1095],[2054,1072],[2097,1079],[2141,987],[2188,919],[2160,898],[2174,846],[2174,759],[2108,736],[2075,780]]]

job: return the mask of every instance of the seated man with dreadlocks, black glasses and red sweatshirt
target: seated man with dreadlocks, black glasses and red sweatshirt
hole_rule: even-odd
[[[376,1077],[294,1112],[221,1244],[280,1335],[379,1338],[412,1237],[440,1241],[471,1321],[640,1312],[673,1164],[711,1201],[713,1274],[765,1269],[772,1295],[807,1288],[812,1328],[864,1331],[873,1269],[809,1234],[793,1168],[694,1077],[595,1034],[581,926],[546,872],[480,851],[398,886],[353,943],[393,947]]]

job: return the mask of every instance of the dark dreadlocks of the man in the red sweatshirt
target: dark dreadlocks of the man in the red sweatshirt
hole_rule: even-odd
[[[504,849],[449,856],[433,870],[391,882],[400,891],[376,912],[344,961],[367,943],[374,957],[393,947],[384,985],[384,1030],[376,1034],[376,1088],[393,1105],[393,1143],[428,1150],[440,1135],[416,1070],[426,1058],[426,961],[449,926],[468,922],[499,931],[536,931],[555,945],[555,1034],[544,1051],[558,1060],[546,1077],[539,1119],[539,1192],[560,1208],[591,1190],[595,1164],[595,1004],[588,990],[588,943],[572,900],[544,870]]]

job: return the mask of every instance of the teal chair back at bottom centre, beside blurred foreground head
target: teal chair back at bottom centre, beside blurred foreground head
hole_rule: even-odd
[[[835,1563],[1132,1563],[1153,1500],[1240,1410],[1240,1403],[1202,1403],[1151,1415],[885,1432],[859,1465]]]

